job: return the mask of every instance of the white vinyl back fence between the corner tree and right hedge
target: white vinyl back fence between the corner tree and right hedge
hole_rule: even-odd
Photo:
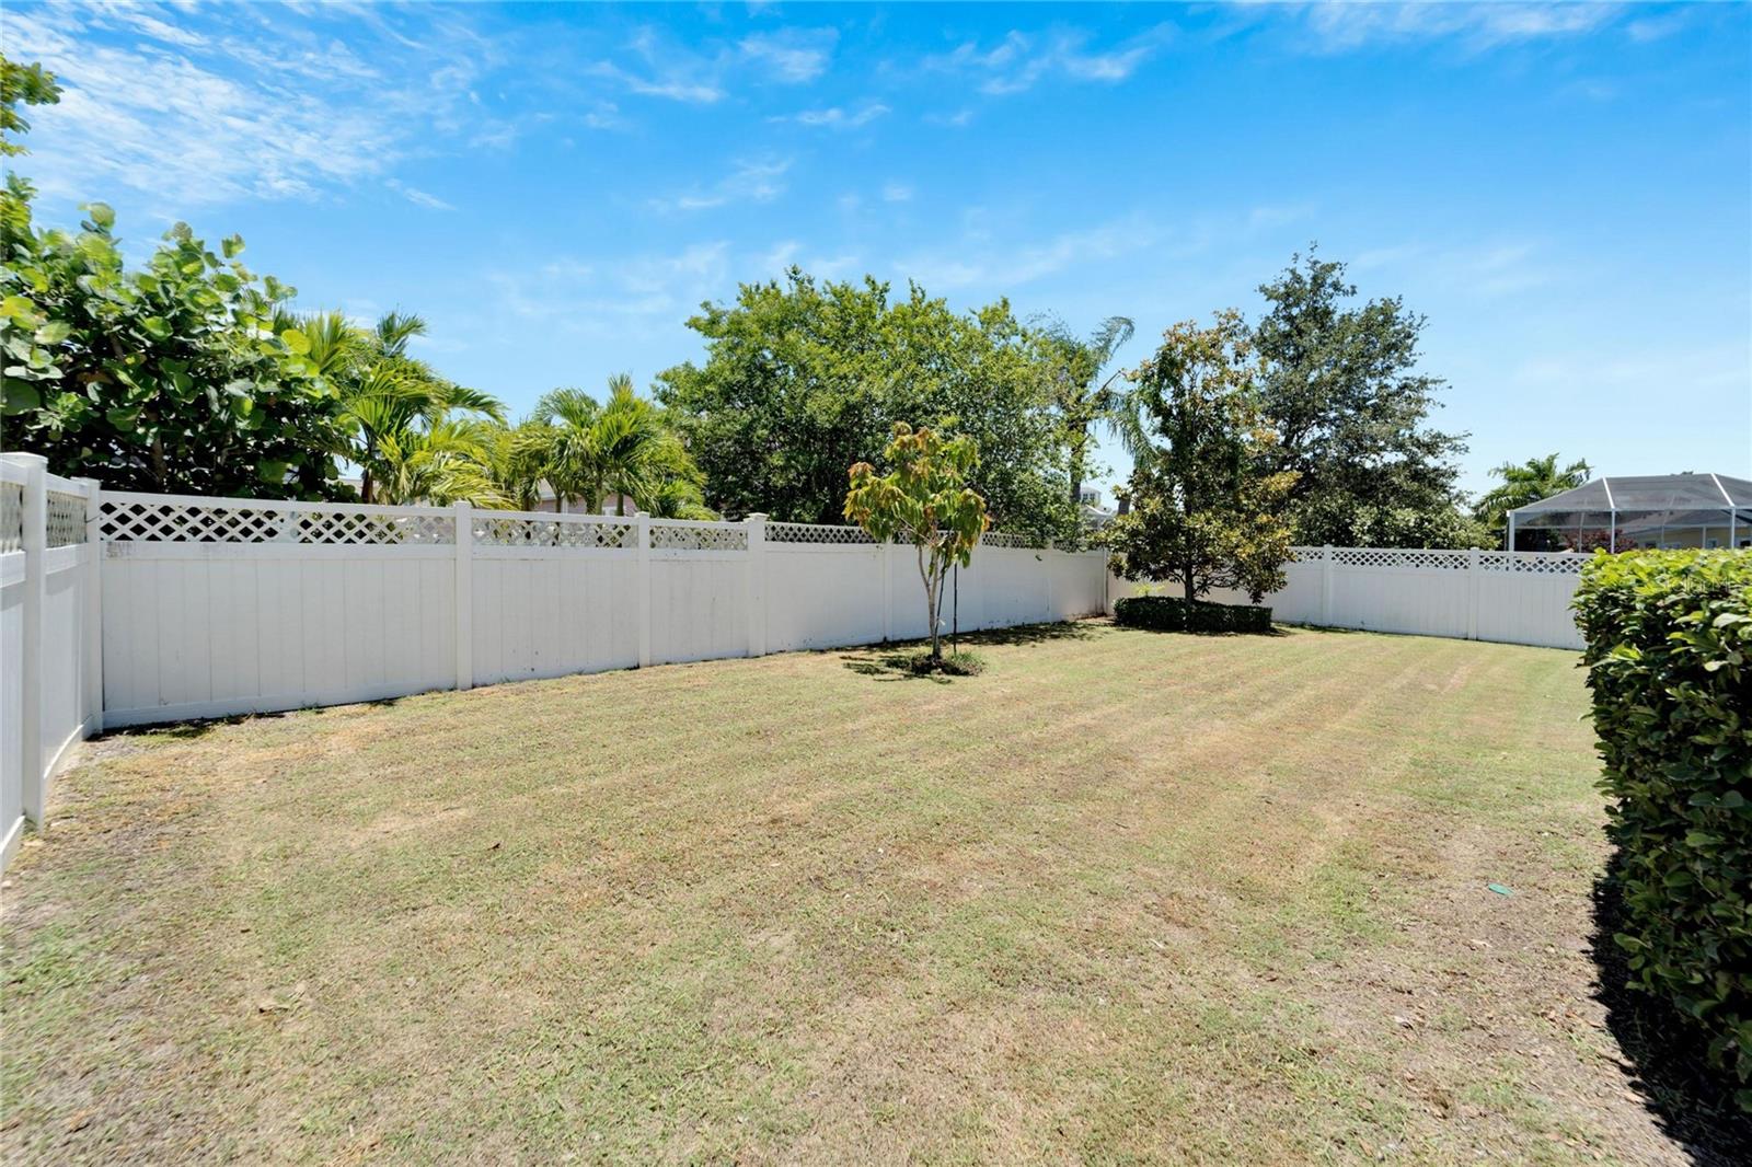
[[[1298,547],[1282,591],[1261,603],[1286,624],[1580,648],[1570,598],[1587,555],[1563,552]],[[1177,584],[1149,591],[1179,596]],[[1116,578],[1113,599],[1142,591]],[[1247,603],[1239,592],[1209,596]]]

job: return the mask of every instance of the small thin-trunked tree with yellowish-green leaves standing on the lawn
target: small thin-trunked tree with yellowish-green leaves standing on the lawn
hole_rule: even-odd
[[[979,447],[965,436],[943,438],[895,422],[883,457],[894,466],[887,475],[878,475],[869,463],[851,468],[846,519],[874,540],[901,540],[916,548],[930,659],[937,662],[943,661],[937,636],[943,580],[950,568],[967,566],[990,522],[985,499],[967,485],[967,475],[979,464]]]

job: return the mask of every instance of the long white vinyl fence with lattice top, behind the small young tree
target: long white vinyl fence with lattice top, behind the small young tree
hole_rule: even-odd
[[[925,634],[857,527],[98,496],[103,722],[217,717]],[[988,534],[960,627],[1102,612],[1097,552]]]

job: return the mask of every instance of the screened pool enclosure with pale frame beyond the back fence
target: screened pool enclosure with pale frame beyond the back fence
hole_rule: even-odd
[[[1752,482],[1727,475],[1594,478],[1508,512],[1508,550],[1752,547]]]

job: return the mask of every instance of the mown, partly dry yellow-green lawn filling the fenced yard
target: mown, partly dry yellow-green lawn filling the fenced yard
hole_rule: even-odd
[[[979,655],[93,743],[4,892],[0,1155],[1682,1162],[1591,995],[1573,654]]]

